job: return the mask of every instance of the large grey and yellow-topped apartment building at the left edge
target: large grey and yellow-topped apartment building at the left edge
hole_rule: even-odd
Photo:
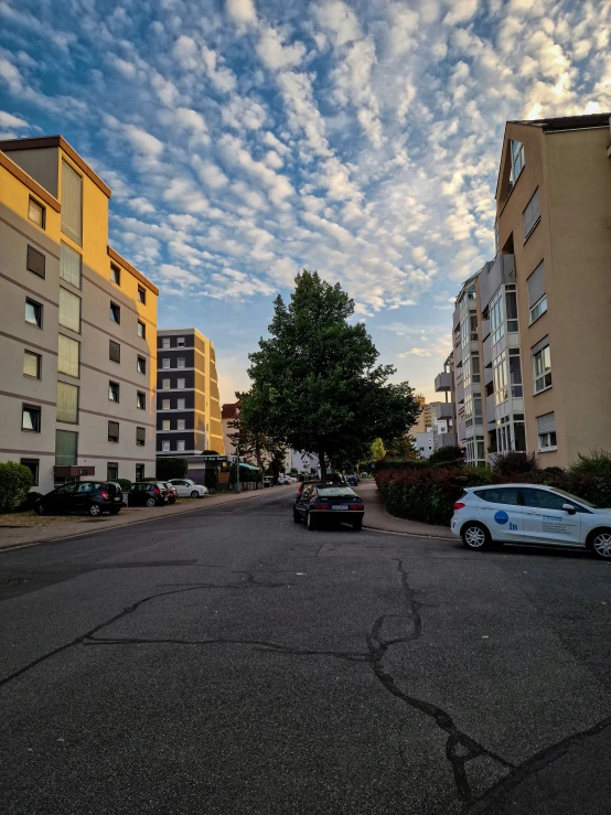
[[[109,197],[61,136],[0,142],[0,460],[39,492],[154,475],[159,292],[108,245]]]

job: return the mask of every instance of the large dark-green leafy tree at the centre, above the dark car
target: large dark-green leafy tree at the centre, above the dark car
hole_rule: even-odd
[[[328,459],[356,463],[376,437],[416,422],[412,388],[388,383],[395,368],[375,364],[378,352],[365,326],[349,322],[354,301],[339,283],[303,269],[290,303],[278,296],[274,312],[269,339],[249,354],[253,387],[240,416],[248,427],[317,452],[324,478]]]

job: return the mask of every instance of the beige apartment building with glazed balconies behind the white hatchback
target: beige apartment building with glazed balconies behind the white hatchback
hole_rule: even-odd
[[[459,443],[566,467],[611,451],[610,114],[507,122],[496,248],[453,315]]]

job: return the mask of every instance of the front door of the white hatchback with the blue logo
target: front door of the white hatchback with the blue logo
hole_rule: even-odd
[[[524,504],[524,539],[540,544],[579,545],[581,539],[581,513],[562,510],[565,504],[575,506],[564,495],[522,487]]]

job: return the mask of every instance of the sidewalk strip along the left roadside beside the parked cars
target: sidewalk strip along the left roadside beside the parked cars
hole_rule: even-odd
[[[254,492],[245,492],[236,495],[235,493],[224,495],[206,495],[203,498],[192,498],[184,504],[175,504],[174,506],[130,506],[124,507],[118,515],[103,515],[101,517],[92,518],[88,515],[72,516],[45,516],[39,521],[32,517],[32,523],[22,525],[23,521],[28,524],[30,518],[20,518],[18,514],[14,516],[3,516],[12,521],[14,517],[15,526],[0,525],[0,551],[2,549],[33,546],[49,540],[58,540],[65,537],[81,537],[82,535],[92,535],[97,532],[105,532],[115,527],[127,527],[132,524],[141,524],[147,521],[156,521],[158,518],[168,517],[168,515],[183,515],[189,512],[201,512],[219,504],[229,504],[234,501],[256,501],[258,498],[270,495],[285,495],[287,501],[294,493],[294,484],[285,484],[282,486],[274,486],[269,490],[256,490]],[[9,521],[9,523],[10,523]],[[41,523],[44,522],[44,523]]]

